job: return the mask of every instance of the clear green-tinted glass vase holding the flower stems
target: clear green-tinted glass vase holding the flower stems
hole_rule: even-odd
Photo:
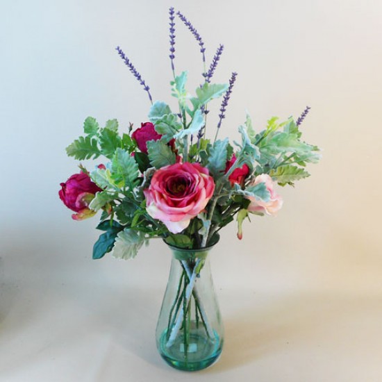
[[[208,253],[169,246],[172,263],[156,327],[160,356],[176,369],[212,365],[222,352],[224,328]]]

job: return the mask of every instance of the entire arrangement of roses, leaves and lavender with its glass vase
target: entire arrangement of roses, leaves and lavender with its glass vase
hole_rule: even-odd
[[[176,73],[175,17],[190,30],[200,47],[203,73],[193,94],[186,88],[188,72]],[[206,67],[204,40],[174,8],[169,9],[171,92],[176,108],[153,101],[149,86],[124,51],[117,53],[149,96],[148,122],[119,132],[116,119],[101,127],[88,117],[84,135],[67,147],[76,160],[103,156],[102,164],[61,183],[60,199],[82,220],[101,211],[93,258],[109,253],[134,258],[143,244],[162,238],[172,251],[172,267],[157,326],[161,356],[178,369],[195,370],[215,362],[223,344],[223,326],[213,291],[208,251],[219,233],[236,220],[238,238],[250,215],[276,215],[283,200],[276,185],[293,185],[309,176],[306,163],[316,163],[319,149],[301,140],[300,125],[273,117],[256,131],[247,115],[239,126],[240,142],[219,138],[236,73],[229,83],[213,83],[224,50],[217,48]],[[215,99],[222,98],[212,137],[206,120]],[[210,129],[208,133],[210,133]],[[220,134],[221,135],[221,134]]]

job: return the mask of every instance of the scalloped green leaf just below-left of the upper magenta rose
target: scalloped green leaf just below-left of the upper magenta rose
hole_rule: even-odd
[[[112,160],[113,178],[133,190],[139,183],[138,164],[127,151],[117,148]]]

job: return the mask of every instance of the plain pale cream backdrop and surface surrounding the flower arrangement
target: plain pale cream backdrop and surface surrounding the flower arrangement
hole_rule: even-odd
[[[59,183],[85,117],[146,122],[149,101],[114,48],[170,101],[169,6],[238,72],[220,137],[297,117],[323,148],[312,176],[282,188],[276,218],[224,231],[211,259],[226,326],[222,358],[184,374],[154,331],[169,252],[92,260],[97,218],[74,222]],[[382,2],[372,0],[1,0],[0,381],[381,381]],[[176,69],[201,54],[176,22]],[[210,130],[219,104],[209,115]],[[92,168],[93,164],[90,165]]]

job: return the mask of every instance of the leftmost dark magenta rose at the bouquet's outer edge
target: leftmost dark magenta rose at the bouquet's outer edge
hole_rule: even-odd
[[[95,215],[95,212],[90,210],[89,204],[96,192],[101,192],[102,189],[92,182],[88,174],[84,172],[74,174],[60,185],[61,190],[58,194],[65,206],[75,212],[72,215],[74,220],[83,220]]]

